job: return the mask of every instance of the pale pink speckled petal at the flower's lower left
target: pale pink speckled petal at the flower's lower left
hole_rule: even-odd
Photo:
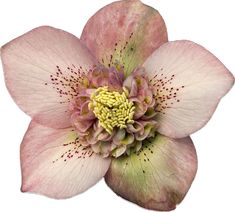
[[[22,191],[69,198],[96,184],[110,160],[82,147],[71,128],[31,123],[21,145]]]

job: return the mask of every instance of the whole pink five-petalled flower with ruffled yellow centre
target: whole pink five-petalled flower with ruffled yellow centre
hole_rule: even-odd
[[[197,171],[189,135],[234,84],[203,47],[168,42],[160,14],[138,0],[101,9],[80,39],[39,27],[1,57],[10,94],[32,117],[22,191],[58,199],[105,176],[123,198],[173,210]]]

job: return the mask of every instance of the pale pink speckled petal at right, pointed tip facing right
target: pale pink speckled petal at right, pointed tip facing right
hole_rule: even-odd
[[[145,62],[158,103],[158,131],[180,138],[199,130],[234,84],[209,51],[190,41],[164,44]]]

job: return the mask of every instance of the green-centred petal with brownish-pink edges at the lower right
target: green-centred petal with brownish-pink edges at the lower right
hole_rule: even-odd
[[[197,156],[189,137],[174,140],[157,135],[139,153],[114,159],[105,176],[118,195],[144,208],[175,209],[197,171]]]

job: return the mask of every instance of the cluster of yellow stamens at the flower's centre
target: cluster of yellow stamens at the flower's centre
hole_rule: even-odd
[[[127,124],[133,124],[135,106],[128,100],[129,92],[123,88],[123,92],[109,91],[107,86],[100,87],[91,95],[89,109],[99,119],[99,125],[109,134],[114,127],[126,128]]]

